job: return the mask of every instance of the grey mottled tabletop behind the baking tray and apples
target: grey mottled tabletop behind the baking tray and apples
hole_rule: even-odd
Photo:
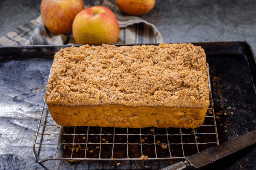
[[[37,18],[40,3],[0,0],[0,37]],[[247,41],[255,52],[255,9],[254,0],[156,0],[152,11],[140,17],[157,27],[164,42]]]

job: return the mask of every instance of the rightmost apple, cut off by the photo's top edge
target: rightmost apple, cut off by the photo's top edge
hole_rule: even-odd
[[[130,15],[143,15],[155,6],[155,0],[115,0],[120,11]]]

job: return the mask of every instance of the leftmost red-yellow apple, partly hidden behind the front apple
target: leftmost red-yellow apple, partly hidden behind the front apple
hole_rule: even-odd
[[[54,34],[72,33],[72,23],[84,9],[82,0],[42,0],[40,12],[43,23]]]

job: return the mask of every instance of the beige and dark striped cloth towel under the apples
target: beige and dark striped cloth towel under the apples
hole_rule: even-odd
[[[88,8],[93,5],[85,6]],[[123,14],[109,0],[98,0],[94,6],[105,6],[114,12],[119,23],[120,33],[116,44],[154,44],[163,42],[156,27],[140,17]],[[9,45],[63,45],[76,44],[71,35],[53,35],[44,27],[38,17],[23,24],[0,38],[0,46]]]

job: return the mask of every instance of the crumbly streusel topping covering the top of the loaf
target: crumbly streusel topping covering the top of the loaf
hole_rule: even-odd
[[[47,83],[48,105],[207,108],[206,55],[192,44],[61,49]]]

